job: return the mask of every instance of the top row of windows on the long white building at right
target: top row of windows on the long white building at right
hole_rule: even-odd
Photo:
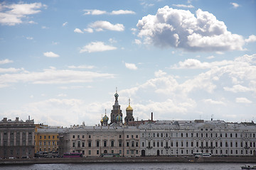
[[[175,133],[176,135],[175,135],[175,137],[194,137],[194,133],[178,133],[178,132],[176,132]],[[144,133],[142,133],[142,137],[144,137],[145,135],[144,135]],[[171,133],[170,135],[169,135],[169,133],[165,133],[165,135],[164,135],[164,133],[148,133],[148,137],[174,137],[174,134],[173,133]],[[229,135],[228,135],[228,133],[203,133],[203,132],[201,132],[201,133],[196,133],[195,134],[195,137],[255,137],[256,135],[255,135],[255,133],[250,133],[250,134],[247,134],[247,133],[245,133],[245,134],[242,134],[242,133],[240,133],[240,135],[238,134],[238,133],[235,133],[235,135],[233,135],[233,133],[230,133]]]

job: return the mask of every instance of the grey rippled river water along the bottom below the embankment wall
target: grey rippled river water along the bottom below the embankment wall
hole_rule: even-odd
[[[29,164],[5,165],[3,170],[236,170],[245,164],[233,163],[95,163],[95,164]]]

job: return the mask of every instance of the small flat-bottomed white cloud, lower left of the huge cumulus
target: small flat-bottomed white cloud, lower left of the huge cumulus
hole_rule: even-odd
[[[82,52],[103,52],[108,50],[116,50],[117,47],[111,46],[111,45],[105,45],[104,42],[90,42],[90,44],[85,45],[80,50],[80,53]]]

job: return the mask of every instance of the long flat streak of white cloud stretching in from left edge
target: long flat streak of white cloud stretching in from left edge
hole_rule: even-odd
[[[14,70],[15,71],[15,70]],[[43,72],[23,72],[15,74],[1,74],[0,84],[14,84],[18,82],[31,84],[70,84],[92,82],[97,79],[112,79],[114,74],[82,72],[75,70],[44,69]]]

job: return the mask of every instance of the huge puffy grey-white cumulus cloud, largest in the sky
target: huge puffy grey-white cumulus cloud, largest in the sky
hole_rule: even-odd
[[[159,8],[156,15],[144,16],[137,23],[138,36],[145,44],[176,47],[188,51],[244,50],[242,35],[230,33],[223,21],[208,11]]]

